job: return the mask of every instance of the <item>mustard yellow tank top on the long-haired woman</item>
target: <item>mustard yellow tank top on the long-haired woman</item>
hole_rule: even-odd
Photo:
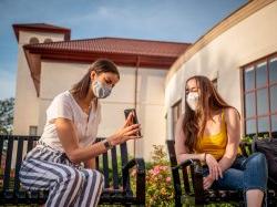
[[[227,137],[227,128],[224,118],[224,111],[222,113],[222,123],[220,123],[220,132],[211,135],[211,136],[203,136],[198,138],[196,143],[196,153],[207,153],[215,157],[215,159],[220,159],[225,153],[226,145],[228,142]],[[239,153],[239,149],[238,149]]]

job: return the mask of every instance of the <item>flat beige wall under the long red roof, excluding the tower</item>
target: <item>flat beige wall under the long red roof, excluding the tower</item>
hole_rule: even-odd
[[[39,134],[45,123],[45,110],[53,97],[71,87],[86,72],[89,64],[42,61],[39,99]],[[99,136],[115,133],[124,123],[124,108],[135,107],[135,68],[119,68],[121,81],[113,93],[102,104],[102,122]],[[136,156],[150,158],[153,144],[164,144],[164,80],[166,71],[138,69],[137,116],[142,124],[143,138],[136,142]],[[134,153],[133,142],[129,142],[130,153]]]

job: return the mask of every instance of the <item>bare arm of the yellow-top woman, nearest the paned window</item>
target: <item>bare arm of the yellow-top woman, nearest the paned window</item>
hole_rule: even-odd
[[[219,161],[222,170],[228,169],[234,163],[240,141],[239,115],[235,108],[225,110],[225,122],[227,126],[227,146],[224,156]]]

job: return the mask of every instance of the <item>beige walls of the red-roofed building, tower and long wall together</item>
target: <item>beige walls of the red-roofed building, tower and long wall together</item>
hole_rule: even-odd
[[[40,97],[37,97],[29,65],[22,45],[31,38],[43,42],[47,38],[62,41],[62,34],[24,32],[19,35],[19,60],[17,94],[14,107],[14,134],[28,135],[30,126],[38,126],[41,135],[45,124],[45,110],[53,97],[69,90],[86,72],[89,64],[42,61]],[[99,136],[109,136],[124,123],[124,108],[135,107],[135,69],[120,68],[121,81],[110,97],[101,100],[102,123]],[[150,158],[153,144],[164,144],[164,80],[166,71],[156,69],[138,69],[137,73],[137,116],[142,124],[143,139],[136,143],[136,156]],[[155,123],[155,124],[153,124]],[[134,144],[129,142],[129,149],[134,154]]]

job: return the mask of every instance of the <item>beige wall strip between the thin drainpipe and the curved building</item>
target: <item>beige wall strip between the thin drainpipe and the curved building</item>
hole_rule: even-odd
[[[143,138],[136,143],[136,154],[150,159],[153,145],[164,145],[166,120],[164,116],[164,70],[138,70],[137,114]]]

